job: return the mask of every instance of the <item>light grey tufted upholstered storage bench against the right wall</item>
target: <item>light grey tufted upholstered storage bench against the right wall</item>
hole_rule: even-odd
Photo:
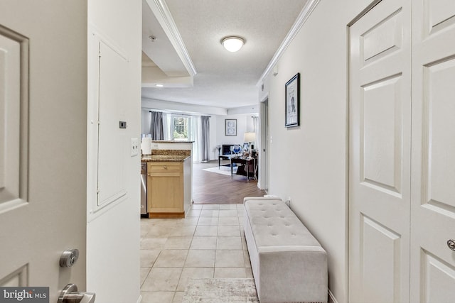
[[[245,238],[261,303],[327,302],[327,255],[281,200],[247,197]]]

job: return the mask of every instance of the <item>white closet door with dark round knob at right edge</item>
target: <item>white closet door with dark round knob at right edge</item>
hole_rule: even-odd
[[[455,302],[455,1],[413,1],[411,302]]]

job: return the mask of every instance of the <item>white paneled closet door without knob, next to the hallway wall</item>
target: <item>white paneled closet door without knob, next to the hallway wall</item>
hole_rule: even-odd
[[[349,302],[409,302],[410,1],[350,26]]]

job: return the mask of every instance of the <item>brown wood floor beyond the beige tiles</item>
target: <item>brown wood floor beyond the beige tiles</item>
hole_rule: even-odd
[[[218,160],[207,163],[193,163],[194,204],[242,204],[244,197],[262,197],[264,190],[257,187],[257,181],[247,182],[247,177],[207,172],[204,168],[218,166]]]

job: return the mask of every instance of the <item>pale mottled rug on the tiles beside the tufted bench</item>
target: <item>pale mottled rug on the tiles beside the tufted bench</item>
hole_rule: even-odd
[[[188,279],[182,303],[259,303],[254,279]]]

